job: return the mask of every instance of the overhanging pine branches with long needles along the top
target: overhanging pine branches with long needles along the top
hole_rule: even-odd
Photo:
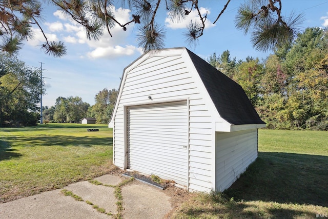
[[[44,35],[44,43],[41,48],[50,55],[63,56],[66,47],[63,42],[50,41],[42,27],[43,8],[46,4],[52,4],[68,15],[77,24],[83,26],[89,39],[99,39],[106,31],[112,36],[112,29],[119,25],[122,31],[127,30],[128,25],[138,25],[139,33],[137,41],[145,51],[159,49],[164,46],[165,31],[156,22],[156,14],[159,10],[167,10],[174,21],[188,17],[192,10],[196,10],[199,16],[198,22],[191,22],[185,33],[186,41],[197,42],[203,35],[208,13],[201,14],[201,1],[198,0],[125,0],[124,6],[132,11],[132,19],[129,22],[119,21],[112,6],[113,1],[73,1],[51,0],[49,2],[19,0],[0,1],[0,37],[3,39],[0,50],[10,54],[17,53],[22,48],[24,41],[33,37],[32,26],[37,26]],[[270,50],[290,43],[295,38],[298,25],[302,22],[301,15],[282,16],[282,0],[248,0],[238,9],[236,27],[245,33],[252,34],[252,42],[258,50]],[[214,24],[227,9],[230,0],[222,5],[222,10],[217,11]],[[289,18],[290,17],[290,18]]]

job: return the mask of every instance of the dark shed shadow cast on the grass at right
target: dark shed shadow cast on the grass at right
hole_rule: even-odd
[[[328,207],[328,156],[259,152],[223,193],[234,200]]]

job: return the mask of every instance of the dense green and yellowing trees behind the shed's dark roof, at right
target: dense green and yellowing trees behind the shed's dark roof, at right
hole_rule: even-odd
[[[328,130],[327,29],[307,28],[265,60],[226,50],[208,62],[241,85],[268,128]]]

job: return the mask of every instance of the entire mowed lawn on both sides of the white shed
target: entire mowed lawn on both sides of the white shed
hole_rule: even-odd
[[[99,128],[99,132],[87,132]],[[173,218],[328,215],[328,132],[259,130],[259,157],[223,193],[195,193]],[[0,201],[108,173],[112,129],[47,124],[0,128]]]

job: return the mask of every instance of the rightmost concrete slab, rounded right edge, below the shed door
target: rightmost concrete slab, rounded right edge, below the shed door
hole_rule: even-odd
[[[122,187],[122,196],[125,219],[163,218],[172,210],[168,195],[140,182]]]

